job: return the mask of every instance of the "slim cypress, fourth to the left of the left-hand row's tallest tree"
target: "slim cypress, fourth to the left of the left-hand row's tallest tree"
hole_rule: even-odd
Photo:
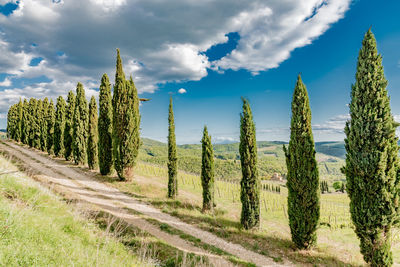
[[[71,90],[68,92],[67,97],[67,111],[65,113],[65,130],[64,130],[64,157],[66,160],[73,159],[73,145],[74,145],[74,114],[75,114],[75,101],[76,97]]]

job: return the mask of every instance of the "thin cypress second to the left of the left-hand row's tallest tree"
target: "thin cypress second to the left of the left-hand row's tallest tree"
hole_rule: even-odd
[[[89,132],[88,132],[88,165],[89,169],[93,170],[98,165],[98,129],[97,129],[97,104],[94,96],[89,103]]]

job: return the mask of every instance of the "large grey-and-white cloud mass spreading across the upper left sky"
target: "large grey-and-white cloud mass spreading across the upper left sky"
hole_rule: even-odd
[[[42,91],[65,95],[77,81],[93,90],[103,73],[114,76],[117,47],[139,93],[166,82],[200,80],[210,69],[257,74],[323,34],[350,2],[20,0],[11,15],[0,14],[0,73],[13,75],[13,81],[45,75],[50,82],[1,94],[10,101]],[[237,47],[210,62],[204,52],[227,42],[230,32],[240,35]],[[35,57],[42,62],[30,66]]]

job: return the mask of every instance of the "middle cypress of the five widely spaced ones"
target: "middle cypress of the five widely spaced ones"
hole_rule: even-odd
[[[242,213],[240,222],[244,229],[260,226],[260,178],[257,171],[256,127],[247,99],[242,98],[240,114],[239,154],[242,167],[240,200]]]

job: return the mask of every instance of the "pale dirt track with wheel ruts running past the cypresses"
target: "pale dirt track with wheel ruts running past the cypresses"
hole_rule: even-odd
[[[100,209],[149,232],[174,247],[195,254],[207,255],[215,266],[230,266],[232,264],[220,256],[212,255],[193,246],[179,236],[170,235],[161,231],[159,227],[130,213],[129,210],[134,210],[161,223],[166,223],[186,234],[199,238],[204,243],[220,248],[242,260],[252,262],[257,266],[282,266],[281,264],[275,263],[271,258],[247,250],[240,245],[229,243],[210,232],[184,223],[178,218],[163,213],[149,204],[143,203],[138,199],[120,192],[118,189],[93,180],[89,175],[84,175],[71,167],[57,163],[47,156],[42,156],[34,150],[16,145],[12,142],[0,143],[0,150],[8,152],[10,155],[20,159],[28,167],[41,173],[41,177],[45,179],[47,183],[58,186],[62,190],[67,191],[67,193],[72,193],[75,197],[96,205]],[[288,265],[290,264],[286,262],[284,266]]]

